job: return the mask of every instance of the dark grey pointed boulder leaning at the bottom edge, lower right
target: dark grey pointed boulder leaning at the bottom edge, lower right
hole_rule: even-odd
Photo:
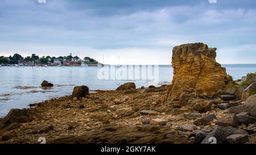
[[[213,130],[207,135],[207,137],[205,137],[201,144],[212,143],[211,137],[216,138],[217,144],[223,144],[224,141],[226,140],[226,137],[228,137],[228,133],[225,132],[223,127],[216,125],[214,126]]]

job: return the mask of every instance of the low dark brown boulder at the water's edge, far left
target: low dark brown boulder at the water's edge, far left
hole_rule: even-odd
[[[26,123],[32,120],[40,120],[42,116],[36,112],[27,109],[11,109],[9,113],[0,122],[0,128],[12,123]]]

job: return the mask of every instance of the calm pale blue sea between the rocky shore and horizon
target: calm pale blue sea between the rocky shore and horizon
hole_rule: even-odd
[[[222,66],[234,79],[239,79],[246,73],[256,72],[256,64]],[[102,68],[98,67],[15,68],[1,66],[0,117],[5,116],[11,108],[26,108],[30,103],[72,94],[73,87],[77,85],[86,85],[92,91],[97,89],[114,90],[128,81],[133,81],[137,87],[141,87],[160,86],[170,83],[172,79],[170,65],[160,65],[159,68],[129,66],[132,71],[114,66],[105,66],[104,68],[104,73],[102,73]],[[145,70],[147,71],[144,72]],[[105,75],[104,79],[102,79],[102,75]],[[44,79],[55,86],[43,89],[40,84]]]

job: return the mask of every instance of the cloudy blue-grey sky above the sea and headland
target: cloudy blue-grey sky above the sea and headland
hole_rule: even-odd
[[[173,47],[201,42],[221,64],[256,64],[255,0],[40,1],[0,1],[1,56],[171,64]]]

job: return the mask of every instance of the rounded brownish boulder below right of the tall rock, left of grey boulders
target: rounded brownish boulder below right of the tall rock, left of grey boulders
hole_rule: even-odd
[[[225,114],[220,119],[218,119],[217,125],[221,125],[224,127],[237,127],[238,125],[240,125],[240,122],[235,114]]]

